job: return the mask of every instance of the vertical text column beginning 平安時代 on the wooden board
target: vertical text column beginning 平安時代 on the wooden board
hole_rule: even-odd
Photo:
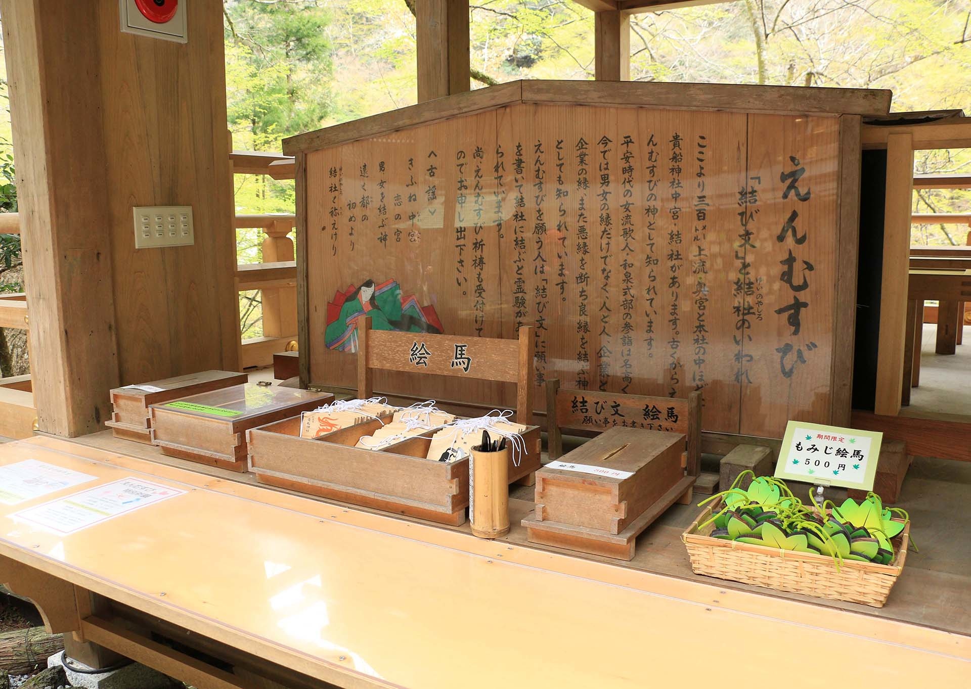
[[[634,348],[634,140],[620,139],[620,392],[633,382]]]

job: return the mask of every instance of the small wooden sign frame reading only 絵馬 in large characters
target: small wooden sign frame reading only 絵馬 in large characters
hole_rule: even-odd
[[[519,328],[519,340],[372,330],[357,319],[357,396],[374,395],[372,370],[403,371],[516,383],[516,420],[533,418],[533,328]],[[539,465],[537,465],[539,466]]]

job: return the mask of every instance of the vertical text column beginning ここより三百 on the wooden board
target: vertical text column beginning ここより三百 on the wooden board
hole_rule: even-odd
[[[694,332],[691,345],[694,345],[694,371],[691,382],[695,390],[705,386],[705,362],[708,359],[708,194],[705,190],[705,161],[708,150],[708,137],[698,135],[695,143],[694,160],[698,164],[694,192],[694,232],[691,235],[691,276],[694,289]]]

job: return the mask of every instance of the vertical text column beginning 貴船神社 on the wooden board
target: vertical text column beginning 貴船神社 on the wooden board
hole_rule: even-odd
[[[668,340],[668,395],[676,397],[682,381],[685,365],[681,361],[681,269],[684,256],[681,249],[683,237],[681,232],[681,198],[684,195],[685,184],[681,179],[682,163],[685,152],[682,148],[683,137],[675,132],[670,141],[671,154],[668,156],[668,189],[671,192],[671,206],[668,209],[670,226],[667,234],[667,262],[668,262],[668,292],[671,299],[668,310],[668,324],[671,326],[671,337]]]

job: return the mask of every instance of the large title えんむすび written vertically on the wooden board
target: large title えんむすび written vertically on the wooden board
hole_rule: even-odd
[[[779,180],[786,183],[786,188],[783,189],[782,199],[783,201],[789,201],[792,206],[798,206],[799,204],[804,204],[812,198],[812,189],[810,187],[805,187],[805,191],[800,190],[797,186],[800,182],[799,180],[803,175],[806,174],[806,168],[802,166],[799,159],[794,155],[788,156],[789,163],[791,163],[792,169],[788,172],[783,172],[779,176]],[[789,197],[792,197],[789,200]],[[799,259],[796,254],[792,253],[792,246],[795,246],[800,253],[805,251],[803,245],[806,243],[808,232],[806,230],[799,233],[799,228],[796,226],[796,220],[799,218],[799,212],[796,209],[788,214],[788,218],[785,223],[783,223],[782,230],[779,231],[779,236],[776,237],[776,241],[780,244],[787,245],[788,255],[786,258],[781,260],[779,263],[783,266],[783,272],[779,276],[779,281],[788,285],[789,291],[788,296],[792,297],[792,301],[783,304],[775,312],[786,318],[786,323],[792,328],[790,335],[796,336],[802,334],[803,338],[806,335],[802,332],[802,319],[800,314],[809,309],[809,274],[812,273],[816,268],[812,263],[805,259]],[[804,301],[805,300],[805,301]],[[810,341],[806,343],[806,350],[812,351],[816,348],[816,343]],[[783,377],[792,377],[795,373],[796,366],[799,364],[806,363],[806,355],[803,353],[802,347],[793,345],[791,342],[778,347],[776,352],[779,354],[779,367],[782,371]]]

